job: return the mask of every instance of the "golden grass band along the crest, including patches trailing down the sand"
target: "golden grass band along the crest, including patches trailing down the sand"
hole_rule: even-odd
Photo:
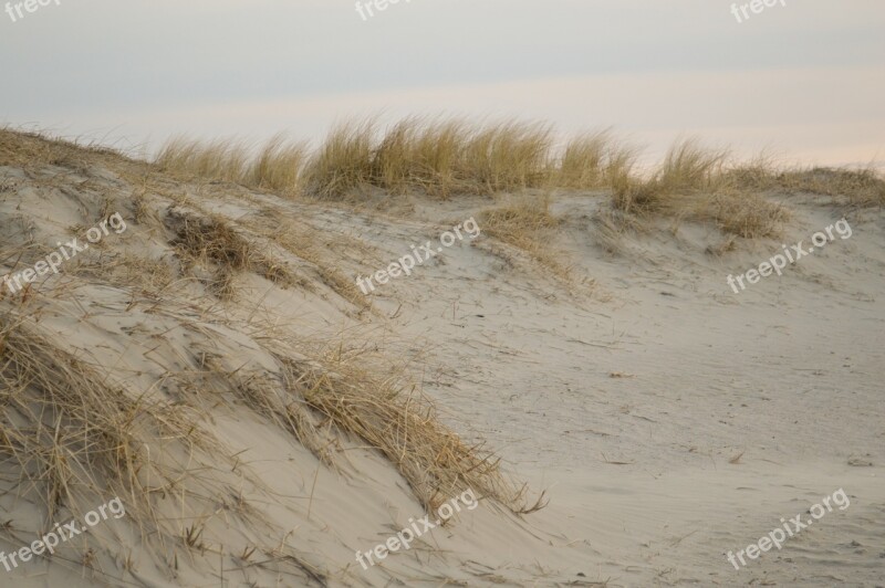
[[[179,176],[323,201],[504,195],[502,204],[482,211],[488,230],[561,276],[568,269],[549,246],[558,224],[550,213],[553,192],[605,196],[610,207],[601,214],[612,235],[669,218],[714,224],[728,239],[775,238],[790,218],[769,198],[778,195],[885,204],[885,179],[872,168],[780,168],[770,157],[740,161],[693,138],[676,140],[655,166],[641,165],[642,155],[611,129],[558,140],[541,123],[413,116],[386,127],[376,119],[339,124],[315,149],[282,135],[258,148],[179,137],[155,164]],[[514,203],[513,195],[522,197]]]

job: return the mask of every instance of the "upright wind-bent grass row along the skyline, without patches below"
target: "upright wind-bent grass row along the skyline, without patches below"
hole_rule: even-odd
[[[553,138],[550,125],[512,119],[471,124],[413,116],[382,130],[367,118],[339,124],[314,151],[281,136],[257,156],[237,141],[175,138],[156,164],[170,172],[326,200],[353,200],[371,188],[440,198],[562,188],[611,189],[614,208],[636,214],[662,212],[687,196],[727,191],[809,192],[857,206],[885,203],[885,179],[872,168],[778,169],[766,156],[731,165],[726,149],[707,149],[689,138],[677,140],[654,170],[637,174],[638,150],[617,141],[611,130],[580,134],[561,150]]]

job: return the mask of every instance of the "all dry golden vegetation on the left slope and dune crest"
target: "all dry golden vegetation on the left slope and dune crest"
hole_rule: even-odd
[[[369,450],[428,512],[466,489],[510,513],[541,507],[543,495],[529,498],[493,452],[462,441],[403,368],[379,370],[345,332],[309,336],[285,309],[303,304],[293,292],[309,292],[314,314],[335,304],[356,321],[375,312],[353,282],[372,252],[345,232],[330,238],[339,220],[329,211],[348,209],[317,202],[464,202],[485,235],[559,276],[570,272],[550,249],[570,220],[556,212],[562,197],[597,198],[596,228],[611,243],[657,218],[712,224],[729,239],[774,237],[793,195],[885,204],[885,180],[872,168],[781,169],[693,139],[650,168],[641,155],[611,130],[560,141],[549,125],[517,120],[362,120],[339,125],[313,149],[282,135],[257,148],[178,137],[150,162],[0,129],[0,166],[12,170],[0,183],[10,195],[0,201],[2,273],[39,262],[60,231],[82,234],[113,211],[133,224],[40,288],[0,290],[2,492],[27,496],[50,521],[112,491],[171,574],[179,553],[230,555],[226,525],[239,521],[243,567],[261,555],[326,585],[337,571],[322,558],[251,531],[271,525],[252,506],[270,491],[225,444],[226,419],[246,407],[250,417],[238,419],[260,419],[278,442],[299,443],[305,472],[315,459],[356,475],[348,456]],[[62,220],[45,218],[49,200]],[[309,225],[309,208],[330,216]],[[360,259],[347,260],[351,251]],[[345,261],[353,264],[342,269]],[[264,300],[243,295],[256,284],[279,315],[263,316]],[[41,529],[0,531],[14,543]]]

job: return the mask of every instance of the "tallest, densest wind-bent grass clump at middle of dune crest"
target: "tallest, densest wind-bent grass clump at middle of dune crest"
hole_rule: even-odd
[[[470,128],[458,120],[406,118],[384,134],[373,122],[335,127],[308,165],[309,192],[344,198],[361,186],[397,193],[491,195],[548,177],[549,126],[518,122]]]

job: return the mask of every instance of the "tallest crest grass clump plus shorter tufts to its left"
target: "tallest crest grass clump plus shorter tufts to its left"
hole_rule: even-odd
[[[372,119],[335,126],[309,154],[274,137],[257,157],[241,143],[174,138],[157,155],[163,171],[299,193],[347,199],[361,188],[491,195],[543,185],[550,177],[549,125],[504,120],[471,126],[410,117],[385,133]]]

